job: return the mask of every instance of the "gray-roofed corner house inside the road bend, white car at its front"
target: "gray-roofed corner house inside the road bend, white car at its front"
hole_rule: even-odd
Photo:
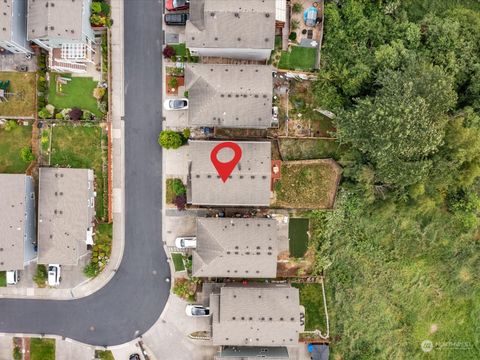
[[[94,174],[90,169],[40,168],[38,263],[77,265],[93,244]]]

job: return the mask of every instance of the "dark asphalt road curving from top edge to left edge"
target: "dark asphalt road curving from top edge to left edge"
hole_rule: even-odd
[[[125,1],[125,251],[101,290],[69,301],[0,300],[0,332],[117,345],[147,331],[169,295],[161,241],[162,2]]]

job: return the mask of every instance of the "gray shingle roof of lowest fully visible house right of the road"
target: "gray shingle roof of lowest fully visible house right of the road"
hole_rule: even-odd
[[[298,289],[286,285],[225,286],[210,308],[214,345],[296,345],[304,330]]]

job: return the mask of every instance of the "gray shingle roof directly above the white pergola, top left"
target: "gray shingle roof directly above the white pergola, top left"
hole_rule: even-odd
[[[27,37],[81,40],[83,0],[28,0]]]

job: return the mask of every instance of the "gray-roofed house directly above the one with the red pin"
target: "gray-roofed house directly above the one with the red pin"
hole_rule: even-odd
[[[188,124],[266,129],[272,125],[271,66],[186,64]]]

